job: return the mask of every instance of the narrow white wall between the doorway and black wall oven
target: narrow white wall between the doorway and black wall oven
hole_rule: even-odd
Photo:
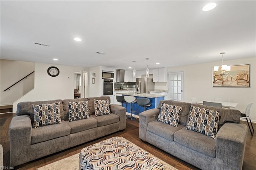
[[[92,73],[95,73],[94,84],[92,84]],[[103,95],[102,67],[91,67],[88,75],[88,97],[98,97]]]

